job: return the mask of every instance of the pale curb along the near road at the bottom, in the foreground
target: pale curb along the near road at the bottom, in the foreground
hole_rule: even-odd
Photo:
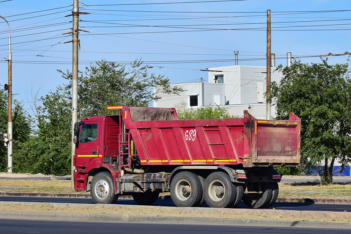
[[[175,216],[141,216],[119,214],[77,214],[52,212],[0,211],[1,219],[60,220],[60,221],[96,221],[96,222],[147,222],[147,223],[190,223],[216,225],[284,226],[284,227],[332,227],[351,228],[351,223],[333,223],[316,221],[284,221],[257,219],[217,219]]]

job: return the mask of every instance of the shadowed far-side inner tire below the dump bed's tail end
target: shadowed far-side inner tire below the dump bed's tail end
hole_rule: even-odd
[[[258,191],[259,185],[258,183],[249,183],[246,185],[247,190],[250,191]],[[246,206],[250,208],[265,208],[272,199],[272,185],[270,183],[261,183],[261,191],[263,193],[249,193],[243,197],[243,202]]]

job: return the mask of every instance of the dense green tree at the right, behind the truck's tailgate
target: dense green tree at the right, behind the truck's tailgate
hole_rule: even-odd
[[[350,162],[351,79],[348,64],[295,62],[277,69],[284,77],[272,82],[277,119],[290,112],[301,118],[301,164],[317,168],[323,184],[332,183],[336,160],[342,169]]]

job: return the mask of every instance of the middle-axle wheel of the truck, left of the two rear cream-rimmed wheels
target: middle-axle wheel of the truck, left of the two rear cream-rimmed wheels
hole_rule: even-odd
[[[171,198],[178,207],[199,206],[203,187],[200,178],[192,172],[179,172],[171,182]]]

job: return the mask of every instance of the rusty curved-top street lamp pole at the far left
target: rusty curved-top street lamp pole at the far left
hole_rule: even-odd
[[[8,120],[7,120],[7,172],[12,173],[12,54],[11,54],[11,33],[7,20],[0,15],[8,25]]]

